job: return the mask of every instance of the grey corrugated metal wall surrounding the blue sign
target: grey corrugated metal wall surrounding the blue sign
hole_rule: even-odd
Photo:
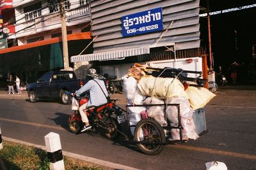
[[[94,52],[108,52],[138,46],[154,45],[170,25],[157,45],[176,43],[176,50],[200,47],[199,0],[98,0],[92,1],[92,33]],[[163,8],[162,32],[122,37],[121,18],[125,15]]]

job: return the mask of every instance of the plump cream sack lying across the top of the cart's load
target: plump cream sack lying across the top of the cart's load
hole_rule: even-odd
[[[138,88],[144,96],[166,99],[169,97],[186,97],[182,83],[173,78],[144,77],[138,83]]]

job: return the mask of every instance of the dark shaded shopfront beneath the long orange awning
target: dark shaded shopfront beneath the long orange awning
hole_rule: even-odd
[[[78,55],[90,39],[68,41],[68,56]],[[92,45],[84,53],[92,53]],[[74,63],[70,62],[70,67]],[[8,73],[18,74],[22,84],[38,80],[47,71],[63,69],[62,42],[0,54],[0,88],[6,87]]]

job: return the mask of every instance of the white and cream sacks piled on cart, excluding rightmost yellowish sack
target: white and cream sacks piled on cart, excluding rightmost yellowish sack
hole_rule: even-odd
[[[177,127],[178,109],[177,106],[167,106],[164,104],[180,104],[180,120],[182,129],[182,139],[197,139],[199,136],[195,132],[193,121],[193,109],[189,103],[189,96],[184,90],[182,83],[173,78],[144,77],[138,82],[132,76],[124,78],[125,97],[129,105],[134,104],[163,104],[163,106],[132,106],[127,108],[130,125],[136,125],[141,120],[141,112],[146,111],[148,117],[154,118],[160,125],[167,126],[168,118],[172,127]],[[172,129],[170,140],[180,139],[180,130]],[[134,135],[134,127],[131,127]]]

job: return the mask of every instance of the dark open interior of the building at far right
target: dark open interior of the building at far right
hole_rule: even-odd
[[[220,15],[211,15],[211,41],[214,70],[219,66],[222,72],[230,79],[230,64],[236,61],[239,64],[237,80],[245,83],[253,80],[250,74],[253,63],[252,45],[256,44],[254,16],[255,8],[232,11]],[[201,46],[208,45],[207,18],[200,18]],[[209,63],[208,63],[209,64]]]

